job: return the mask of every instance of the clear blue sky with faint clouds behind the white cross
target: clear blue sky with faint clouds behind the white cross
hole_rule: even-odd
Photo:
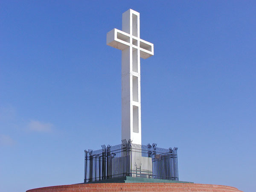
[[[121,140],[121,51],[140,12],[142,143],[178,147],[179,180],[256,188],[255,1],[0,3],[0,191],[80,183],[84,149]]]

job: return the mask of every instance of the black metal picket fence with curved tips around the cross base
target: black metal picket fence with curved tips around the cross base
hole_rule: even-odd
[[[117,177],[178,180],[177,148],[122,141],[115,146],[84,151],[84,183]]]

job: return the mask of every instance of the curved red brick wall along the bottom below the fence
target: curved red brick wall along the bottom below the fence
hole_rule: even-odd
[[[49,186],[26,192],[242,192],[235,187],[196,183],[90,183]]]

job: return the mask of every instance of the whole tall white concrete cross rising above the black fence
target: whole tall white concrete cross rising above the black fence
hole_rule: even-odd
[[[122,14],[122,31],[107,34],[107,45],[122,50],[122,140],[141,145],[140,57],[154,55],[154,45],[140,39],[140,13]]]

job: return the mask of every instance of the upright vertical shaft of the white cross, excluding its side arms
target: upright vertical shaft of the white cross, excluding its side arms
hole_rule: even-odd
[[[140,105],[140,14],[131,9],[122,14],[122,31],[130,35],[122,50],[122,140],[141,144]]]

